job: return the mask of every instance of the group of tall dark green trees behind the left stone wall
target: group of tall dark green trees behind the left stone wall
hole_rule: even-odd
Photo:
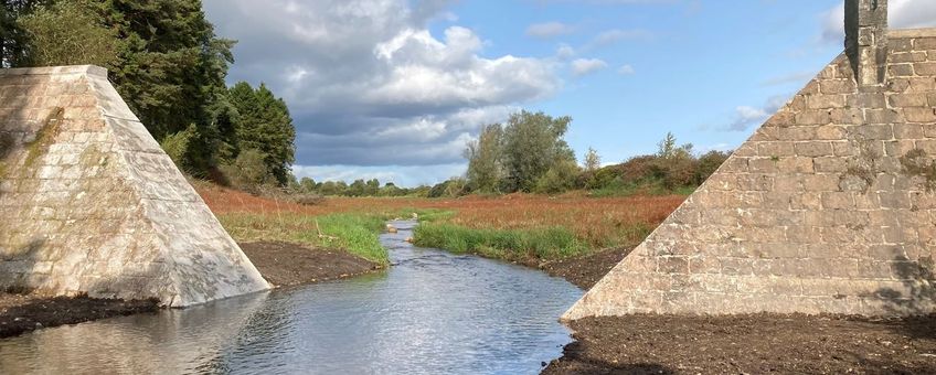
[[[225,85],[235,41],[199,0],[3,0],[3,67],[94,64],[189,174],[286,185],[295,159],[289,110],[265,85]]]

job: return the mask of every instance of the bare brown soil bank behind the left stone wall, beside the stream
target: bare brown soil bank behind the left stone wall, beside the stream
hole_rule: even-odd
[[[263,277],[277,287],[340,279],[381,269],[375,262],[342,250],[278,242],[240,245]]]

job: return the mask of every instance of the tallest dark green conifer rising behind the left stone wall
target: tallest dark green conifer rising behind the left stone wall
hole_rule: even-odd
[[[117,90],[156,139],[195,124],[210,139],[206,108],[224,88],[234,41],[219,39],[200,0],[95,1],[117,33]],[[209,151],[209,150],[206,150]]]

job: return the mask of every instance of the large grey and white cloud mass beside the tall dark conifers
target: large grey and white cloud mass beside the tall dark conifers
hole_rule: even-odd
[[[464,143],[506,108],[562,85],[551,58],[486,56],[453,0],[205,0],[238,40],[231,81],[265,82],[289,105],[297,164],[462,162]],[[447,176],[446,176],[447,178]]]

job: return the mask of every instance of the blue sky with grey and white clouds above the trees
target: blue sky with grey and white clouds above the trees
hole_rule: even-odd
[[[936,1],[890,0],[892,28]],[[227,81],[289,106],[297,176],[415,186],[464,175],[466,143],[521,109],[571,116],[583,159],[668,131],[730,150],[842,52],[842,0],[205,0],[237,40]]]

